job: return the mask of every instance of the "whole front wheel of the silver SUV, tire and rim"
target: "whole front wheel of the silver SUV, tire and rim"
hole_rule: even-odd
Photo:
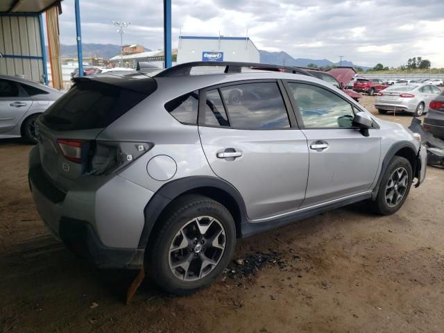
[[[399,176],[400,172],[402,176]],[[400,179],[397,180],[398,176]],[[376,199],[371,203],[375,212],[382,215],[397,212],[409,195],[412,180],[413,172],[410,162],[404,157],[394,156],[382,176]],[[401,183],[402,185],[400,185]],[[391,191],[393,191],[392,196]],[[402,194],[401,198],[398,197],[398,194]]]

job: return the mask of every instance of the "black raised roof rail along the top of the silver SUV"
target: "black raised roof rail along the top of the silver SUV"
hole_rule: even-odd
[[[164,69],[160,73],[156,74],[155,78],[163,78],[165,76],[189,76],[191,69],[194,67],[209,67],[209,66],[225,66],[224,73],[241,73],[242,67],[257,67],[258,69],[284,69],[286,73],[302,74],[312,76],[307,71],[296,67],[271,65],[271,64],[258,64],[255,62],[228,62],[228,61],[195,61],[185,62],[184,64],[176,65],[167,69]]]

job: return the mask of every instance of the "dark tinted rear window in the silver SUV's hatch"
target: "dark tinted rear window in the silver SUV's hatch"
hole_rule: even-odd
[[[80,82],[53,103],[42,120],[61,131],[105,128],[146,96],[106,83]]]

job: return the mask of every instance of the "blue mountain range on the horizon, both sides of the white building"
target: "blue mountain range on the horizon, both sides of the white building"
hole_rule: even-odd
[[[120,54],[120,46],[115,44],[82,44],[83,56],[98,57],[110,59]],[[145,49],[145,51],[151,51]],[[46,54],[48,54],[48,46],[46,46]],[[77,57],[77,45],[60,44],[60,54],[62,58],[76,58]],[[289,53],[280,52],[268,52],[259,50],[260,62],[274,65],[307,67],[309,64],[314,64],[318,67],[321,66],[339,66],[339,62],[332,62],[327,59],[308,59],[308,58],[293,58]],[[366,70],[370,67],[355,65],[348,60],[342,61],[342,66],[361,67]]]

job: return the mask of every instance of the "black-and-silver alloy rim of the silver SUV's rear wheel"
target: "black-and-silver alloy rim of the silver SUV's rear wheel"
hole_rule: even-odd
[[[219,264],[225,250],[225,229],[212,216],[199,216],[185,223],[169,248],[169,268],[177,278],[204,278]]]

